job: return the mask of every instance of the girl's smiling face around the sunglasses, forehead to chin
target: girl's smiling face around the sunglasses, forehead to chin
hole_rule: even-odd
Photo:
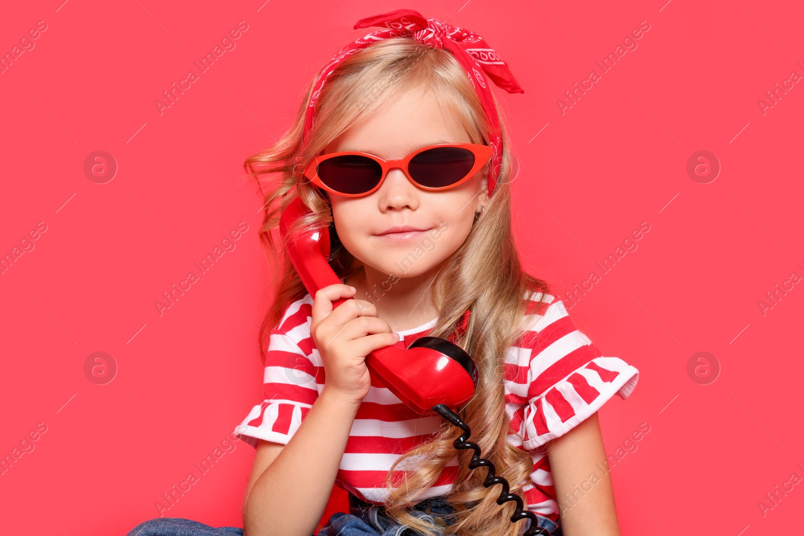
[[[432,96],[415,89],[342,133],[324,152],[355,150],[391,160],[421,146],[445,142],[471,140]],[[475,213],[488,203],[487,182],[481,175],[449,190],[429,191],[395,169],[369,195],[329,194],[338,238],[367,270],[371,267],[398,277],[425,274],[461,246]],[[423,231],[383,235],[396,226]]]

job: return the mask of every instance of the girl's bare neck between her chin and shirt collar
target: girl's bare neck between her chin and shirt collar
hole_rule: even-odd
[[[437,268],[420,276],[390,276],[371,266],[355,274],[347,284],[357,288],[356,300],[369,301],[377,316],[394,331],[415,328],[438,316],[430,292]]]

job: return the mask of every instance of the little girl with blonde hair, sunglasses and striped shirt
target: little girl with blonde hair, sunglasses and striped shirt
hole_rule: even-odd
[[[413,10],[355,24],[371,26],[386,29],[334,56],[289,132],[245,162],[266,192],[265,243],[281,249],[272,231],[301,197],[305,224],[334,225],[343,284],[310,295],[287,257],[280,268],[260,337],[265,400],[234,431],[256,447],[244,529],[160,518],[129,534],[310,536],[334,484],[349,513],[318,536],[522,534],[531,521],[511,522],[515,501],[499,505],[502,486],[484,487],[487,470],[453,447],[461,430],[368,372],[372,350],[425,335],[474,359],[457,413],[540,534],[620,534],[597,410],[626,399],[638,370],[603,357],[519,264],[490,80],[522,90],[472,31]]]

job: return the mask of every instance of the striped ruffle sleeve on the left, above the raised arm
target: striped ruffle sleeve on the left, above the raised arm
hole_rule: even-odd
[[[309,342],[310,333],[309,328],[305,331],[306,325],[302,323],[297,329],[289,329],[293,336],[279,327],[269,333],[265,358],[265,399],[252,407],[233,432],[254,448],[258,439],[288,444],[318,398],[318,367],[296,342],[300,338]]]

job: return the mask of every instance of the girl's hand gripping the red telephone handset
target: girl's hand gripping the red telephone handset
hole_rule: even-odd
[[[366,356],[396,344],[399,336],[370,301],[347,300],[332,309],[333,301],[355,292],[347,284],[330,284],[315,293],[310,334],[324,362],[327,390],[359,404],[371,387]]]

